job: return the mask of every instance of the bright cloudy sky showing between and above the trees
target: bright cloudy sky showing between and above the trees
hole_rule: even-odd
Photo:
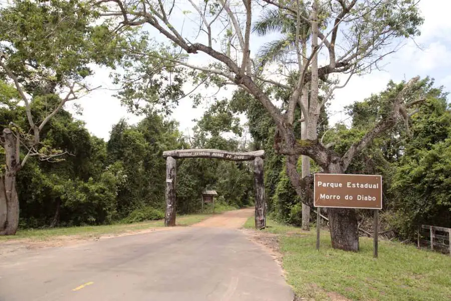
[[[451,22],[448,13],[451,11],[451,0],[422,0],[419,9],[424,17],[421,26],[421,36],[414,40],[406,40],[402,48],[388,56],[381,71],[360,77],[353,77],[346,87],[336,90],[335,98],[329,107],[330,122],[335,123],[347,118],[343,113],[343,107],[354,101],[363,100],[372,93],[382,91],[389,80],[399,82],[409,80],[419,75],[430,76],[435,79],[436,85],[443,85],[445,91],[451,91]],[[254,39],[253,47],[257,49],[265,39]],[[121,106],[118,99],[113,97],[115,87],[109,78],[107,69],[95,69],[95,75],[90,78],[92,86],[102,85],[101,89],[91,92],[89,95],[77,100],[83,108],[82,115],[76,118],[84,120],[88,130],[105,140],[108,140],[113,124],[120,118],[127,118],[129,123],[135,123],[140,117],[127,113],[127,109]],[[211,91],[201,91],[209,95]],[[227,92],[225,94],[227,95]],[[194,118],[200,118],[208,103],[198,108],[192,108],[189,98],[181,99],[179,106],[173,111],[170,118],[179,122],[179,129],[187,132],[195,122]],[[71,104],[67,109],[75,112]],[[242,123],[246,120],[242,118]]]

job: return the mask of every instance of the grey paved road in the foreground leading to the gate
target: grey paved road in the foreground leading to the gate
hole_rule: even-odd
[[[0,257],[0,301],[292,299],[279,266],[237,229],[180,227]]]

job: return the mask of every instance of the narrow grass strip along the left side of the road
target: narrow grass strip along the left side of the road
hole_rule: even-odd
[[[176,223],[178,226],[189,226],[198,223],[208,217],[210,214],[189,214],[177,216]],[[53,229],[26,229],[19,230],[14,236],[0,236],[0,242],[11,239],[30,238],[33,240],[48,240],[56,236],[76,235],[81,238],[96,237],[108,234],[121,234],[126,232],[134,232],[155,227],[163,227],[164,221],[145,221],[134,224],[113,224],[104,226],[82,226],[82,227],[61,227]]]

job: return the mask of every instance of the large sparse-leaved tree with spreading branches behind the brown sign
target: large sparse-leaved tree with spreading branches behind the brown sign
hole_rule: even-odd
[[[308,181],[302,181],[296,170],[300,155],[313,159],[326,173],[344,173],[361,150],[375,137],[406,117],[406,110],[418,105],[422,99],[415,90],[417,79],[399,85],[397,93],[390,98],[390,113],[380,119],[359,141],[353,143],[344,155],[326,147],[317,137],[321,108],[332,100],[334,90],[343,86],[331,78],[333,74],[347,74],[348,78],[344,81],[346,84],[353,74],[377,68],[384,57],[396,50],[395,47],[390,47],[393,41],[419,34],[417,27],[422,19],[412,0],[217,0],[198,5],[189,1],[192,12],[180,12],[174,9],[172,2],[161,0],[142,3],[100,1],[100,5],[105,3],[108,5],[104,7],[104,15],[119,19],[120,26],[140,27],[146,24],[164,36],[171,45],[177,46],[169,54],[152,52],[140,55],[151,56],[154,61],[162,64],[171,62],[175,66],[187,67],[195,80],[205,75],[214,76],[215,84],[233,85],[255,97],[276,124],[276,150],[287,156],[288,177],[304,202],[311,198],[305,197],[308,193]],[[296,49],[277,70],[284,75],[282,78],[274,76],[274,68],[254,68],[256,65],[251,57],[254,37],[251,29],[255,12],[253,9],[259,4],[265,4],[265,10],[275,8],[296,20]],[[183,14],[196,15],[198,35],[190,36],[183,31],[182,24],[174,23],[182,18],[193,19],[192,16]],[[306,53],[301,43],[301,21],[311,28],[311,45]],[[213,62],[202,65],[186,59],[187,55],[200,53],[213,59]],[[322,66],[319,53],[328,57],[328,62]],[[320,80],[327,83],[323,88],[325,95],[322,99]],[[294,84],[290,85],[289,81]],[[308,108],[301,101],[307,86],[310,91]],[[272,101],[275,88],[284,89],[290,95],[285,112],[281,112]],[[415,96],[419,98],[412,101]],[[307,135],[301,140],[296,139],[293,127],[297,109],[303,112],[306,123]],[[328,215],[331,221],[332,246],[357,251],[359,244],[355,210],[329,209]]]

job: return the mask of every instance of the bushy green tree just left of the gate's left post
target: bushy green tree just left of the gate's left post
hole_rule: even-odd
[[[166,161],[162,153],[180,144],[177,123],[155,112],[147,112],[136,125],[124,119],[113,125],[107,143],[108,164],[124,178],[118,186],[118,218],[143,207],[164,208]]]

